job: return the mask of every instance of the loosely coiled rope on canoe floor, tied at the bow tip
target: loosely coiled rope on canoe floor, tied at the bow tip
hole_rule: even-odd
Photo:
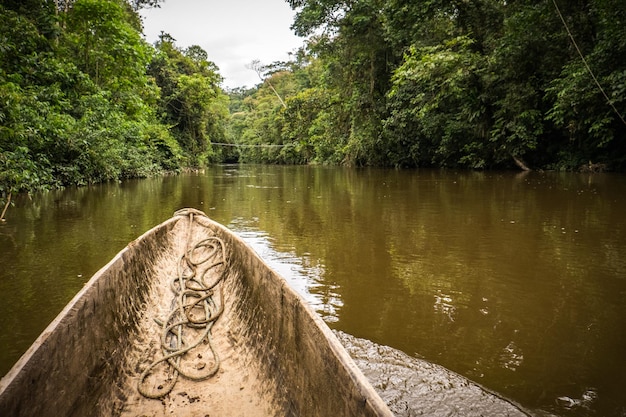
[[[189,228],[185,252],[179,259],[176,277],[170,282],[174,293],[171,311],[166,319],[154,320],[161,327],[162,357],[143,371],[137,383],[139,393],[154,399],[169,394],[179,376],[201,381],[215,375],[220,367],[220,358],[211,339],[211,328],[224,311],[223,289],[218,285],[226,270],[224,242],[218,237],[209,237],[190,245],[194,215],[204,216],[204,213],[184,209],[175,215],[188,216]],[[215,297],[216,291],[218,297]],[[212,358],[203,358],[202,353],[198,353],[206,351],[207,345]],[[196,349],[198,347],[203,349]],[[189,365],[191,359],[194,365]],[[198,359],[212,362],[212,365],[207,366],[207,362],[199,362]],[[163,375],[165,380],[155,382],[158,377],[154,375],[157,373]]]

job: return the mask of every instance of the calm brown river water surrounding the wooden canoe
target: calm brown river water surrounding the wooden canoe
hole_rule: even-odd
[[[626,176],[324,167],[20,196],[0,224],[0,375],[129,241],[195,207],[330,327],[532,410],[626,416]]]

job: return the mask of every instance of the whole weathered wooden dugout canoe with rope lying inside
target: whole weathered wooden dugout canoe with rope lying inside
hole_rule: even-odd
[[[184,209],[85,284],[0,380],[0,415],[393,414],[283,278]]]

